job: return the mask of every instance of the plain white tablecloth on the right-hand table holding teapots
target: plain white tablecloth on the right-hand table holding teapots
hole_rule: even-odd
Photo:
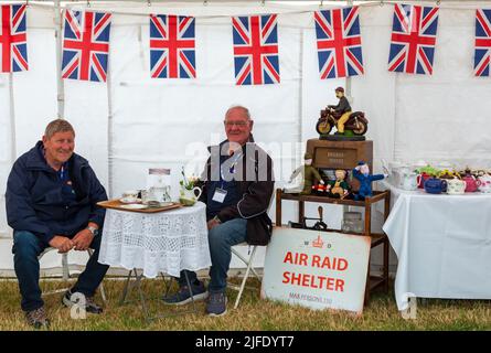
[[[397,308],[409,297],[491,299],[491,195],[389,188],[383,229],[398,259]]]

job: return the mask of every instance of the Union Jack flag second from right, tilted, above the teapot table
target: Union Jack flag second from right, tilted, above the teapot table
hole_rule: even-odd
[[[388,71],[433,74],[438,8],[395,4]]]

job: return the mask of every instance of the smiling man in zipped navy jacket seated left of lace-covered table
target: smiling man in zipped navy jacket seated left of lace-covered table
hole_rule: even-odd
[[[109,267],[97,263],[105,210],[96,204],[107,195],[88,161],[74,153],[74,148],[72,125],[63,119],[51,121],[42,141],[18,158],[7,183],[7,220],[13,228],[21,308],[34,328],[50,324],[39,286],[38,256],[46,247],[58,253],[95,250],[62,301],[71,307],[75,303],[72,295],[79,298],[82,293],[87,312],[103,311],[93,296]]]

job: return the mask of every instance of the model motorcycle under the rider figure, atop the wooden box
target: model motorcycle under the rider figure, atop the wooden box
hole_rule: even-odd
[[[316,125],[317,132],[328,135],[338,125],[340,118],[341,115],[331,111],[331,106],[328,106],[328,108],[320,111],[320,118]],[[344,124],[344,129],[353,131],[355,136],[365,135],[369,130],[369,120],[366,120],[365,114],[363,111],[352,113]]]

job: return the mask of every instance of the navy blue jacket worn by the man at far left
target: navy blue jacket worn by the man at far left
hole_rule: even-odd
[[[107,200],[88,161],[73,153],[68,172],[76,200],[63,197],[56,171],[43,156],[43,142],[18,158],[7,182],[7,221],[14,231],[29,231],[49,242],[55,235],[75,236],[88,222],[99,227],[106,211],[96,205]]]

